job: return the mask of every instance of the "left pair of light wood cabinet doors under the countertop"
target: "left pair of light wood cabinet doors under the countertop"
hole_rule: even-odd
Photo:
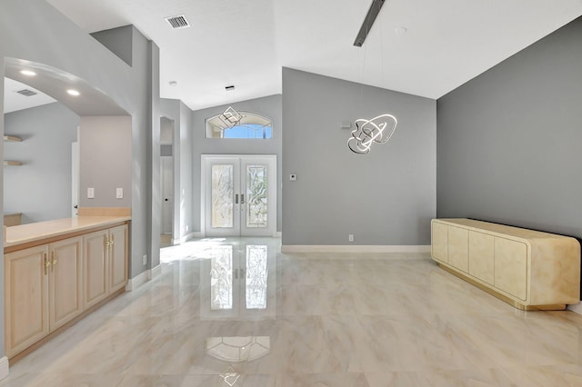
[[[5,254],[8,356],[83,312],[81,258],[81,238]]]

